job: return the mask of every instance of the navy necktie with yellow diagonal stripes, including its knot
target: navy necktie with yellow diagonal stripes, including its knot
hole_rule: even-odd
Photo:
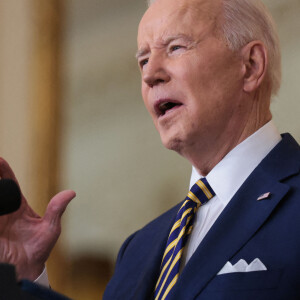
[[[189,191],[180,207],[170,231],[166,250],[155,286],[155,300],[168,299],[169,292],[179,277],[180,259],[183,248],[193,228],[197,209],[215,195],[205,178],[199,179]]]

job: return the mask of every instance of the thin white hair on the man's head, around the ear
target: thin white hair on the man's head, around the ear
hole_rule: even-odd
[[[155,0],[148,0],[150,6]],[[174,0],[176,1],[176,0]],[[219,31],[229,49],[240,50],[254,40],[266,47],[269,64],[267,81],[276,95],[281,84],[281,54],[279,38],[273,18],[261,0],[222,0],[223,16]]]

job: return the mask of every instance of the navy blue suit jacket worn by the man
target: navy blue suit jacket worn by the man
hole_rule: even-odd
[[[300,147],[285,134],[207,233],[183,269],[170,299],[300,299],[299,171]],[[266,192],[270,197],[257,201]],[[104,300],[153,298],[179,206],[125,241]],[[245,259],[250,263],[255,258],[267,271],[217,275],[227,261],[235,264]]]

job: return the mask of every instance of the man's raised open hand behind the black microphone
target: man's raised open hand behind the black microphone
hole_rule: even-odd
[[[0,178],[18,181],[8,165],[0,158]],[[35,280],[61,232],[61,216],[75,192],[68,190],[55,195],[43,218],[28,205],[22,194],[18,211],[0,217],[0,263],[16,266],[18,279]]]

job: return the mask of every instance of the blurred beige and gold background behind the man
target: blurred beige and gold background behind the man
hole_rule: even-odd
[[[300,142],[300,2],[265,0],[283,82],[272,105]],[[143,106],[136,52],[145,0],[0,2],[0,156],[43,214],[77,197],[49,259],[51,285],[100,299],[122,241],[185,196],[190,165],[163,148]]]

